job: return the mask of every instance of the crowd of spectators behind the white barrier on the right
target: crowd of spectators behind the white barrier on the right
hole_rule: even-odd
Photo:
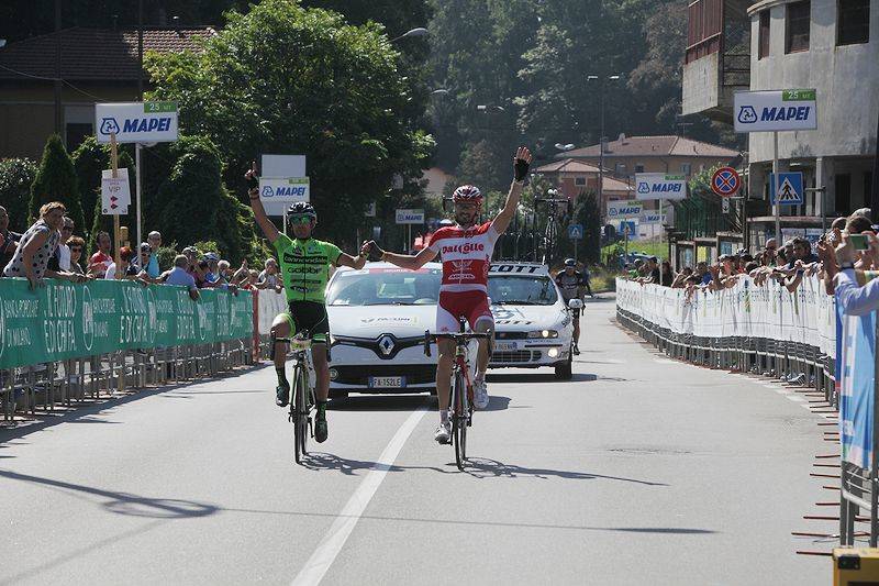
[[[668,261],[660,263],[655,256],[638,259],[626,268],[632,280],[686,289],[688,298],[699,290],[734,287],[745,277],[756,286],[775,280],[793,292],[803,278],[811,275],[817,275],[827,295],[833,295],[839,283],[835,277],[841,266],[855,270],[855,280],[847,283],[860,285],[874,276],[872,272],[879,270],[877,228],[870,221],[870,210],[864,208],[834,220],[831,229],[816,242],[814,251],[812,243],[801,236],[786,241],[780,247],[776,239],[769,239],[756,255],[741,248],[735,254],[721,255],[716,263],[698,262],[696,267],[686,266],[677,274]],[[852,239],[852,235],[864,237]],[[863,250],[855,246],[856,240],[863,244]],[[879,299],[879,285],[876,287]]]

